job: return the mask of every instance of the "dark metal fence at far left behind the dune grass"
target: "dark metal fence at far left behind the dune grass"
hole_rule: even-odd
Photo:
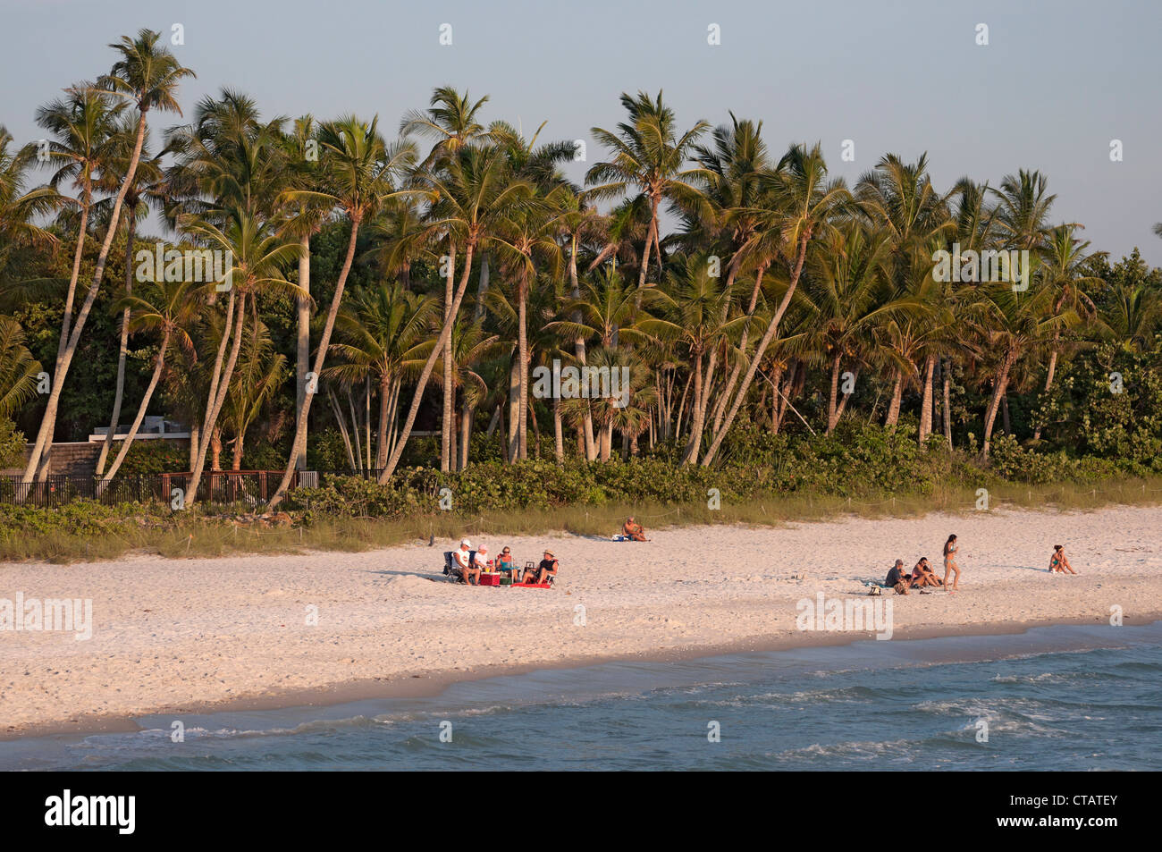
[[[270,500],[282,481],[282,471],[213,471],[202,474],[198,502],[211,506],[257,509]],[[335,472],[340,475],[372,475],[360,472]],[[322,475],[328,475],[327,473]],[[297,471],[290,488],[315,486],[317,471]],[[98,500],[102,503],[163,501],[180,504],[189,500],[189,473],[149,473],[117,475],[107,485],[100,477],[55,474],[43,482],[22,484],[19,475],[0,478],[0,503],[37,508],[57,508],[74,500]]]

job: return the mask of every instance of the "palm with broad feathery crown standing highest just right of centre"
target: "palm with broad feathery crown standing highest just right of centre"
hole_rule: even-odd
[[[698,121],[681,136],[674,110],[665,106],[661,92],[652,99],[645,92],[637,96],[622,93],[622,106],[629,113],[629,121],[617,126],[617,133],[593,128],[593,135],[612,152],[608,162],[595,164],[586,174],[587,184],[597,184],[590,193],[593,198],[616,198],[630,186],[638,189],[640,198],[650,206],[650,227],[641,249],[638,266],[638,286],[644,286],[650,269],[650,251],[661,246],[658,238],[658,208],[662,200],[691,209],[700,203],[702,193],[697,185],[710,179],[702,166],[684,169],[694,153],[694,145],[710,124]]]

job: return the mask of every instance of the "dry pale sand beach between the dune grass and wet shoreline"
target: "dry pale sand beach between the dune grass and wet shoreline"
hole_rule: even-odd
[[[863,594],[863,581],[882,581],[897,557],[911,568],[927,556],[942,574],[949,532],[960,537],[960,590],[892,596],[898,638],[1107,622],[1114,606],[1127,623],[1162,614],[1160,507],[688,527],[650,530],[644,544],[473,540],[493,553],[508,544],[521,564],[551,545],[561,563],[551,590],[449,583],[447,540],[364,553],[8,563],[0,599],[92,599],[93,630],[85,640],[0,630],[0,736],[438,688],[514,666],[863,638],[798,631],[796,602]],[[1047,573],[1054,544],[1066,545],[1078,577]]]

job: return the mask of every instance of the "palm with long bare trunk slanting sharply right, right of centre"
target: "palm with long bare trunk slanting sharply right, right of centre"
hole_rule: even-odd
[[[795,296],[811,239],[831,232],[834,227],[832,216],[852,200],[842,179],[827,180],[827,164],[819,143],[810,150],[802,144],[792,145],[763,182],[767,192],[763,193],[762,207],[755,210],[755,234],[743,251],[753,252],[761,259],[787,258],[790,262],[790,279],[762,339],[759,341],[746,375],[734,394],[734,401],[722,427],[715,432],[710,449],[702,457],[704,467],[713,461],[751,389],[767,346],[779,332],[779,322]]]

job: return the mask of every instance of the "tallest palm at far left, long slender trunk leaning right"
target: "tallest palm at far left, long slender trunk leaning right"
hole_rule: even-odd
[[[56,375],[52,377],[52,389],[49,393],[48,404],[41,420],[41,428],[29,456],[28,466],[21,478],[22,485],[31,484],[33,477],[41,466],[42,456],[46,454],[46,448],[51,448],[52,432],[56,428],[57,407],[60,403],[60,391],[64,387],[65,377],[69,374],[69,366],[72,364],[73,355],[80,343],[80,335],[85,328],[85,321],[93,308],[96,294],[101,288],[101,279],[105,277],[105,265],[109,257],[109,249],[113,246],[113,238],[117,232],[117,222],[121,219],[121,206],[124,202],[125,193],[137,171],[137,162],[141,157],[142,148],[145,144],[146,119],[151,109],[162,112],[181,113],[174,96],[178,84],[187,78],[194,77],[194,72],[182,67],[168,48],[159,48],[160,34],[148,29],[142,29],[136,40],[122,36],[121,41],[109,46],[121,53],[121,58],[114,63],[113,70],[101,80],[99,85],[107,88],[115,96],[132,102],[137,108],[137,136],[134,150],[129,158],[129,166],[125,170],[124,180],[113,202],[113,212],[109,214],[109,225],[105,234],[105,242],[101,243],[100,253],[96,256],[96,266],[93,271],[93,281],[85,294],[85,301],[77,314],[69,342],[62,353],[57,365]],[[40,480],[49,474],[49,466],[41,466]],[[24,489],[27,491],[27,489]]]

